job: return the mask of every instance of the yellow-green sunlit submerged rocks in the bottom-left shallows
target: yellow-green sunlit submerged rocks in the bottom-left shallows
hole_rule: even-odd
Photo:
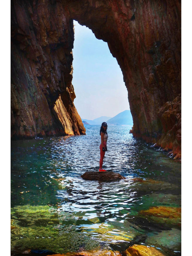
[[[49,206],[15,206],[11,209],[11,250],[49,249],[57,253],[100,248],[100,242],[76,231],[72,214]],[[63,225],[65,220],[66,225]],[[68,220],[68,222],[67,222]],[[55,225],[56,224],[56,225]]]

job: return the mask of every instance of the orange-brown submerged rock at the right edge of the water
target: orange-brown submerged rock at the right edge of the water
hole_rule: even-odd
[[[170,227],[181,227],[181,208],[156,206],[139,212],[139,216],[152,221],[167,224]]]

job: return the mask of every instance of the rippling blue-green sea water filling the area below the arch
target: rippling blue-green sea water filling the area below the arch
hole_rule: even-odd
[[[126,179],[85,181],[85,171],[99,169],[100,126],[85,128],[82,136],[11,142],[12,251],[123,251],[139,243],[180,255],[180,227],[139,213],[181,207],[181,163],[133,138],[131,126],[108,126],[103,167]]]

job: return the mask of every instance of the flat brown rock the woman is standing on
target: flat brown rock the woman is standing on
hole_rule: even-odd
[[[94,171],[87,171],[83,175],[81,175],[83,179],[86,180],[100,180],[100,181],[107,181],[113,179],[125,179],[125,177],[121,176],[119,173],[114,172],[94,172]]]

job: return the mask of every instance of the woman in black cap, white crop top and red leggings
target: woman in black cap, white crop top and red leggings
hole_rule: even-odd
[[[101,144],[100,144],[100,161],[99,161],[99,172],[106,172],[106,170],[102,169],[103,166],[103,158],[105,155],[105,151],[107,151],[107,123],[103,122],[100,128],[100,135],[101,135]]]

